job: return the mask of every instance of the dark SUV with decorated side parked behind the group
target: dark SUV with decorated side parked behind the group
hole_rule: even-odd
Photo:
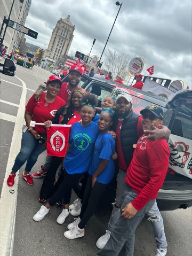
[[[67,81],[67,76],[62,80]],[[133,111],[140,111],[151,103],[164,110],[164,125],[171,130],[169,139],[170,165],[157,203],[161,210],[186,209],[192,205],[192,90],[180,90],[168,101],[149,92],[114,81],[95,79],[83,74],[82,88],[98,96],[99,105],[107,95],[118,95],[122,89],[131,94]]]

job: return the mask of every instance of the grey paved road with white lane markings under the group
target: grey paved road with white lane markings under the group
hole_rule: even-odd
[[[67,230],[67,224],[73,221],[73,217],[69,216],[66,223],[61,226],[57,224],[55,221],[61,211],[59,207],[53,207],[50,213],[41,222],[34,222],[32,219],[33,215],[41,206],[41,204],[38,203],[38,195],[42,179],[34,180],[33,186],[27,185],[21,178],[23,171],[23,168],[21,168],[18,181],[18,194],[16,193],[17,187],[13,188],[15,190],[13,195],[9,190],[6,190],[6,187],[3,187],[2,190],[6,167],[9,167],[7,174],[11,169],[9,162],[7,163],[8,159],[11,161],[12,157],[9,156],[10,150],[11,152],[19,151],[21,131],[18,132],[17,136],[13,135],[14,127],[18,122],[18,119],[15,117],[17,117],[18,112],[21,110],[19,109],[19,105],[25,105],[38,84],[43,83],[49,74],[49,72],[39,67],[34,67],[34,69],[31,70],[17,66],[17,74],[15,77],[2,75],[0,100],[0,191],[3,195],[1,199],[6,199],[8,202],[10,201],[10,205],[8,204],[6,213],[4,212],[5,210],[1,208],[1,213],[7,221],[9,210],[12,210],[12,203],[17,200],[15,224],[13,223],[13,256],[72,256],[74,254],[78,256],[92,256],[98,251],[95,242],[97,238],[105,232],[111,211],[110,205],[107,205],[105,208],[102,207],[102,205],[106,204],[105,201],[101,202],[97,214],[95,214],[87,224],[85,237],[69,241],[63,236],[63,232]],[[23,94],[25,84],[26,95]],[[21,99],[23,102],[21,102]],[[22,126],[22,121],[20,121],[20,126]],[[39,168],[44,158],[45,154],[39,157],[36,166],[33,168],[33,172]],[[17,195],[17,198],[13,198],[14,195]],[[75,199],[75,195],[73,195],[73,199]],[[191,255],[191,208],[187,210],[162,212],[162,215],[165,223],[167,242],[169,244],[167,256]],[[12,216],[14,216],[14,214]],[[4,237],[2,231],[1,235],[2,239]],[[134,256],[153,256],[155,255],[155,250],[156,246],[151,224],[147,219],[144,219],[137,229]]]

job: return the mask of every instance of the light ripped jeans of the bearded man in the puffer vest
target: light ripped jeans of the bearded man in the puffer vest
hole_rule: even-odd
[[[115,207],[115,206],[113,207],[113,211],[111,213],[109,223],[108,223],[109,231],[113,230],[115,223],[117,222],[117,220],[119,219],[119,216],[121,215],[120,213],[121,200],[124,195],[124,191],[127,188],[127,184],[124,181],[125,177],[126,177],[125,170],[119,169],[119,172],[117,175],[117,190],[116,190],[116,199],[115,199],[115,205],[118,207]],[[166,236],[165,236],[164,225],[163,225],[163,218],[161,213],[158,210],[156,201],[155,201],[155,204],[151,207],[151,209],[145,214],[149,217],[148,220],[151,221],[157,247],[161,247],[161,248],[167,247]],[[157,217],[157,219],[153,219],[153,217]]]

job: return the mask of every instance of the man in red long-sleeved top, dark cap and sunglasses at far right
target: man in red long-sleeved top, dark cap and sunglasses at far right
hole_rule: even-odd
[[[161,127],[163,110],[151,104],[140,112],[143,130],[151,125]],[[145,213],[154,205],[158,190],[162,187],[169,166],[169,146],[166,139],[149,141],[146,134],[134,144],[134,153],[125,178],[124,196],[119,216],[106,246],[98,256],[129,255],[134,252],[134,233]],[[161,254],[159,254],[161,255]],[[164,254],[165,255],[165,254]]]

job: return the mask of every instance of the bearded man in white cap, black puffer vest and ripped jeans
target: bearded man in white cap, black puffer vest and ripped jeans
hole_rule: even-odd
[[[116,151],[118,154],[119,167],[117,175],[116,200],[108,223],[108,230],[106,230],[106,234],[101,236],[96,243],[99,249],[102,249],[106,245],[110,237],[110,232],[113,230],[120,215],[120,203],[125,190],[124,180],[126,177],[126,170],[132,160],[138,138],[143,134],[141,120],[142,117],[134,113],[132,110],[131,95],[126,92],[118,95],[116,98],[116,110],[112,127],[112,129],[116,131]],[[170,130],[166,126],[162,126],[161,128],[162,129],[153,127],[153,130],[150,130],[150,137],[147,137],[155,140],[164,137],[168,138],[170,136]],[[156,202],[153,207],[151,207],[151,210],[146,212],[146,214],[149,216],[149,220],[153,224],[157,245],[156,256],[164,256],[166,255],[167,242],[164,233],[163,219]],[[161,250],[163,252],[162,254],[159,254],[158,251]]]

